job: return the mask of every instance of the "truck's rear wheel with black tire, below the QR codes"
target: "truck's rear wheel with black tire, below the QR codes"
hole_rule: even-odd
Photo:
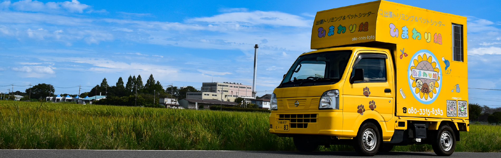
[[[456,148],[456,135],[449,125],[442,125],[437,132],[432,135],[431,146],[433,151],[439,156],[450,156]]]

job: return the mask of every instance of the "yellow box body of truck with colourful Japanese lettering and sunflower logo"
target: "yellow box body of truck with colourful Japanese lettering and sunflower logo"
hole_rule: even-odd
[[[452,23],[466,28],[466,17],[373,1],[317,12],[311,48],[386,45],[395,64],[397,116],[468,119],[466,49],[454,59]]]

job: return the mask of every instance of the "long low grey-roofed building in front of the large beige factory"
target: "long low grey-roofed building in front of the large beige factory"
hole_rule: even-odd
[[[209,108],[211,105],[220,105],[222,104],[223,106],[234,106],[237,103],[233,101],[221,101],[221,100],[215,100],[215,99],[188,99],[184,98],[179,100],[179,106],[182,106],[184,108],[191,108],[191,109],[199,109],[200,107],[203,108]]]

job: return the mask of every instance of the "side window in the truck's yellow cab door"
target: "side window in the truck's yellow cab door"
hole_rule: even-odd
[[[364,80],[354,81],[357,82],[374,82],[386,81],[386,58],[362,58],[358,61],[357,65],[353,67],[351,76],[355,74],[354,69],[364,69]]]

